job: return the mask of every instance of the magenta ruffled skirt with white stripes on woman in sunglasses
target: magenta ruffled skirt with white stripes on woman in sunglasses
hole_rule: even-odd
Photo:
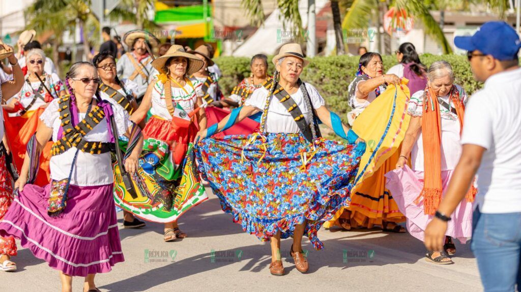
[[[123,253],[113,198],[113,184],[70,185],[67,206],[47,215],[51,185],[28,184],[0,221],[0,235],[13,235],[33,255],[70,276],[106,273]]]

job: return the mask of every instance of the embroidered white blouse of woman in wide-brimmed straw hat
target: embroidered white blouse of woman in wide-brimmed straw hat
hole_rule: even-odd
[[[184,90],[183,88],[179,87],[172,87],[171,89],[172,101],[179,103],[179,105],[181,105],[183,110],[187,113],[193,112],[197,107],[197,98],[203,97],[203,91],[201,90],[202,83],[200,83],[194,77],[190,77],[189,79],[192,85],[187,82],[187,84],[184,85]],[[163,82],[156,81],[154,88],[152,89],[152,108],[150,113],[160,118],[164,118],[165,120],[172,120],[172,115],[170,115],[170,112],[166,108],[164,89]],[[203,102],[203,104],[205,103]]]

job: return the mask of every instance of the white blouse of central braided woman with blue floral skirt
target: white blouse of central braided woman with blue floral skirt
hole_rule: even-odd
[[[318,109],[322,105],[326,104],[324,98],[320,96],[317,89],[313,85],[309,83],[304,84],[314,109]],[[246,99],[244,104],[251,105],[258,110],[263,111],[264,107],[266,106],[266,98],[268,97],[268,94],[269,92],[266,90],[266,88],[260,87],[253,91],[252,96],[249,99]],[[304,114],[306,122],[311,123],[312,113],[308,111],[306,104],[304,103],[304,95],[302,94],[302,90],[299,88],[299,90],[291,95],[291,98],[293,98]],[[269,133],[287,134],[296,134],[300,132],[299,126],[296,125],[291,114],[276,97],[272,97],[269,103],[268,116],[266,120],[266,131]]]

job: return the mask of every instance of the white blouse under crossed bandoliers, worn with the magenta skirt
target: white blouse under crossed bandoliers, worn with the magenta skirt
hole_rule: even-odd
[[[61,120],[59,119],[58,100],[55,99],[40,116],[40,120],[49,128],[53,128],[53,141],[58,140],[58,131]],[[120,135],[127,132],[132,126],[127,111],[121,107],[112,107],[114,111],[114,120],[116,121],[118,132]],[[79,120],[83,120],[85,113],[80,113]],[[109,142],[110,136],[107,128],[107,120],[103,120],[96,125],[86,136],[87,141]],[[72,147],[65,153],[54,155],[51,157],[51,179],[62,180],[69,177],[72,160],[76,154],[76,147]],[[71,184],[81,187],[105,185],[114,183],[114,175],[112,163],[110,161],[110,152],[102,154],[90,154],[82,151],[78,152],[76,165],[72,172]]]

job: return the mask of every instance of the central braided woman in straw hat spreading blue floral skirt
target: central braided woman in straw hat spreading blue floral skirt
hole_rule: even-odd
[[[271,241],[270,272],[283,275],[280,239],[293,236],[290,254],[307,272],[302,251],[306,234],[324,248],[317,231],[349,197],[365,142],[300,74],[309,63],[299,44],[286,44],[273,58],[274,81],[261,87],[219,124],[197,134],[196,156],[222,209],[262,241]],[[261,130],[250,136],[209,139],[247,116],[261,114]],[[349,144],[320,137],[318,120]],[[346,134],[346,132],[348,134]]]

